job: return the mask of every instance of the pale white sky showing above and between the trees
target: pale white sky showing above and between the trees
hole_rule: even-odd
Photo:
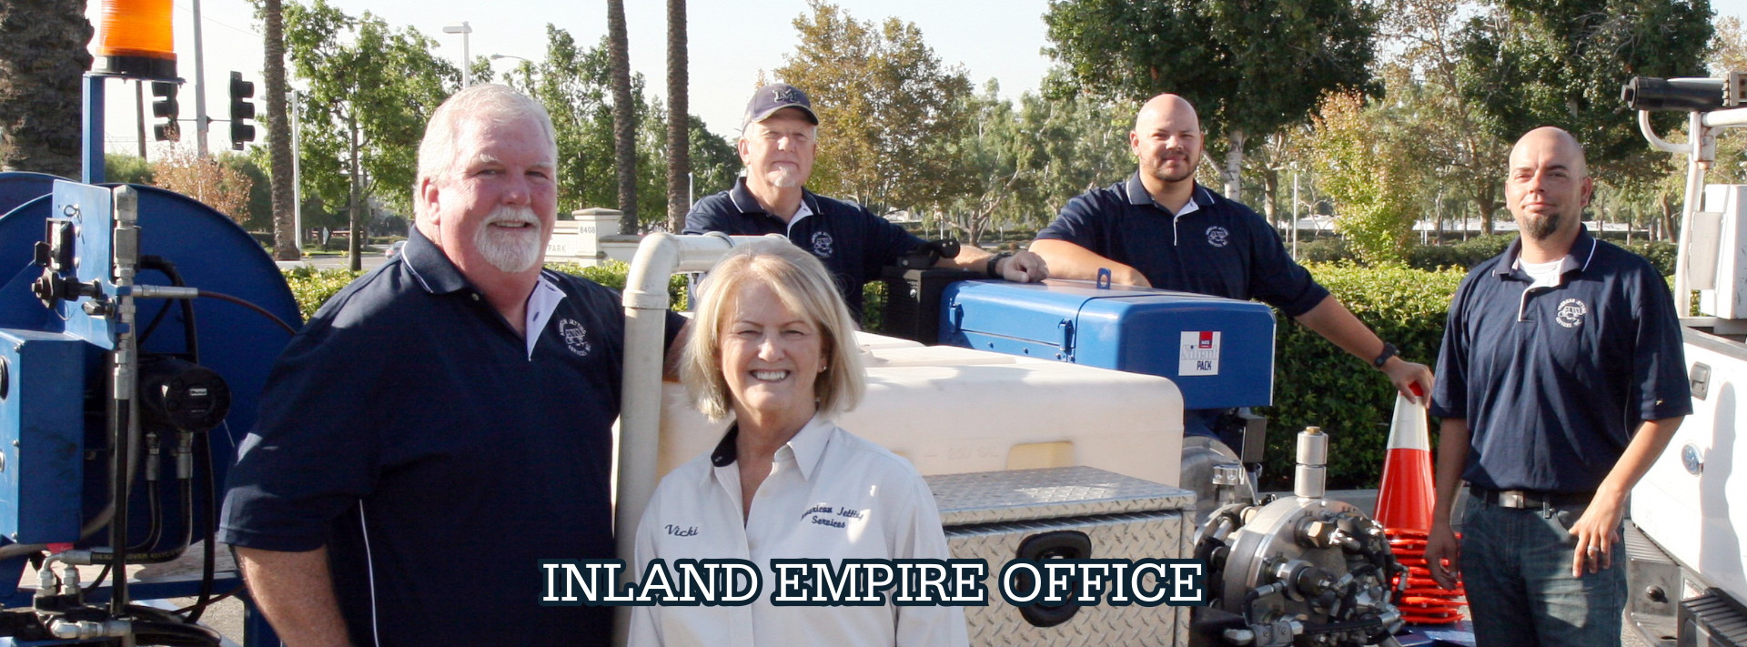
[[[194,117],[194,3],[175,2],[175,38],[178,73],[189,82],[180,94],[185,119]],[[604,2],[535,2],[535,0],[330,0],[348,14],[365,10],[393,26],[414,26],[435,38],[438,56],[456,65],[463,58],[463,37],[444,33],[444,26],[466,23],[473,31],[466,49],[473,58],[489,54],[540,59],[545,52],[545,24],[568,30],[578,44],[594,45],[606,35]],[[1043,14],[1048,0],[837,0],[839,7],[860,21],[898,17],[915,23],[924,40],[947,65],[963,65],[970,79],[982,86],[994,79],[1001,94],[1017,98],[1034,91],[1050,68]],[[89,17],[100,23],[101,0],[93,0]],[[232,70],[257,84],[260,96],[260,35],[248,0],[201,0],[201,42],[204,66],[206,114],[229,117],[227,79]],[[1747,17],[1747,0],[1714,0],[1717,16]],[[807,0],[723,2],[692,0],[687,5],[690,54],[692,114],[716,135],[734,136],[760,70],[783,66],[784,54],[795,51],[793,19],[807,12]],[[667,87],[667,14],[666,2],[627,0],[625,24],[631,40],[631,66],[645,77],[645,93],[664,96]],[[101,30],[101,26],[100,26]],[[94,40],[93,40],[94,44]],[[508,72],[515,59],[493,63]],[[292,86],[299,82],[293,79]],[[105,119],[108,152],[138,152],[136,103],[131,82],[110,80]],[[150,93],[145,94],[150,101]],[[147,107],[150,110],[150,107]],[[257,110],[266,112],[264,103]],[[259,129],[260,143],[264,128]],[[192,138],[192,124],[183,124]],[[150,136],[150,128],[147,136]],[[229,128],[211,126],[211,150],[227,150]],[[155,150],[155,147],[154,147]],[[155,152],[154,152],[155,154]]]

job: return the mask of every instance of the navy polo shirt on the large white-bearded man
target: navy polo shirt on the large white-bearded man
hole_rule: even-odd
[[[538,605],[538,560],[615,556],[624,310],[542,278],[533,350],[418,231],[341,290],[273,367],[218,540],[327,546],[356,645],[604,644],[606,610]]]

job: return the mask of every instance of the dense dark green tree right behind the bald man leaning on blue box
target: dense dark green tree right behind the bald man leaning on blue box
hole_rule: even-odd
[[[1244,152],[1303,122],[1328,91],[1375,91],[1377,10],[1357,0],[1057,0],[1045,14],[1073,91],[1143,101],[1176,93],[1225,140],[1225,192]]]

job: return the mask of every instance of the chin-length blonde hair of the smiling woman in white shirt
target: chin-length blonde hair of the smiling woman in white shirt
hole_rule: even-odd
[[[722,372],[722,325],[753,282],[770,287],[784,308],[812,320],[823,334],[825,372],[812,383],[819,414],[832,418],[854,409],[867,392],[867,376],[854,341],[854,318],[832,275],[819,259],[788,241],[760,240],[728,252],[699,287],[702,297],[680,365],[680,381],[697,411],[715,421],[734,413],[734,393]]]

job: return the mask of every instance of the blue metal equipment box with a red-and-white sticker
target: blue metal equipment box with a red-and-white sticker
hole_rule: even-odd
[[[957,282],[940,343],[1170,378],[1188,409],[1274,402],[1274,311],[1249,301],[1092,282]]]

